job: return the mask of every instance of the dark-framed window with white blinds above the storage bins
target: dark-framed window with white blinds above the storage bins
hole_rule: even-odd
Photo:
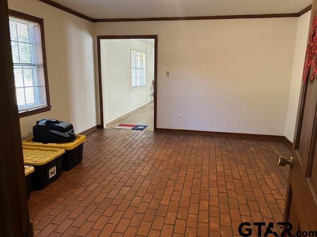
[[[9,26],[19,115],[48,111],[43,19],[10,10]]]

